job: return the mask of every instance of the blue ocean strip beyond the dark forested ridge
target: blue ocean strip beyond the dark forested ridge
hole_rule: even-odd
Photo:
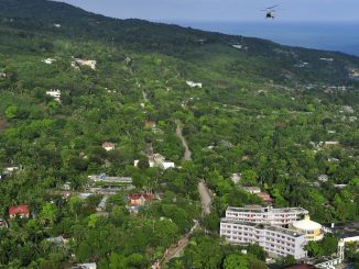
[[[307,48],[341,52],[359,56],[359,22],[176,22],[206,31],[271,40]]]

